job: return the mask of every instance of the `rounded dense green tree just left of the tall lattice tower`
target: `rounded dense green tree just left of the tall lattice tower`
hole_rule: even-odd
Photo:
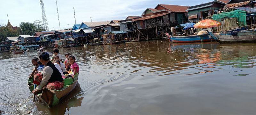
[[[36,32],[36,25],[29,22],[21,22],[20,29],[22,35],[34,35]]]

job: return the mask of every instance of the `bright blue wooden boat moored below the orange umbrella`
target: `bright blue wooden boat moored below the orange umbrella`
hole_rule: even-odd
[[[167,36],[168,37],[168,36]],[[189,42],[201,42],[201,41],[211,41],[209,34],[204,35],[189,35],[189,36],[169,36],[172,42],[177,43],[189,43]]]

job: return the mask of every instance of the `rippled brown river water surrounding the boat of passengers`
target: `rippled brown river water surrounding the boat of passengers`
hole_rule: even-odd
[[[0,53],[0,114],[256,113],[256,44],[152,40],[60,49],[68,52],[80,67],[78,84],[52,108],[33,103],[28,90],[36,51]]]

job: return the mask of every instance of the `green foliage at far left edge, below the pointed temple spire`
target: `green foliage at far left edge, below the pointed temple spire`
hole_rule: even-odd
[[[19,36],[20,31],[20,28],[13,30],[12,27],[8,27],[6,24],[0,24],[0,41],[4,41],[6,37]]]

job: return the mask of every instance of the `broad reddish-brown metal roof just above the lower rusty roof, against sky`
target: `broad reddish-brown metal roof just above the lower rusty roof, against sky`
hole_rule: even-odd
[[[169,5],[169,4],[158,4],[172,12],[187,12],[189,6]],[[157,7],[157,6],[156,6]],[[156,8],[155,8],[156,9]]]

